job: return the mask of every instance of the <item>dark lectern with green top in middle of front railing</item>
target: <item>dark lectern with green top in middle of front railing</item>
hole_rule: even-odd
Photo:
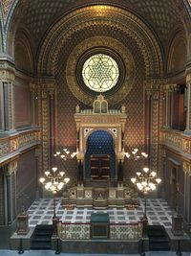
[[[108,213],[92,213],[91,215],[91,238],[109,239],[110,219]]]

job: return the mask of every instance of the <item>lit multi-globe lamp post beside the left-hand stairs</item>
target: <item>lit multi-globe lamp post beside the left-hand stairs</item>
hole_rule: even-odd
[[[56,235],[55,195],[70,181],[70,178],[65,177],[65,172],[58,172],[57,167],[53,167],[51,172],[45,172],[45,176],[40,177],[39,181],[44,185],[46,190],[53,193],[53,235]]]

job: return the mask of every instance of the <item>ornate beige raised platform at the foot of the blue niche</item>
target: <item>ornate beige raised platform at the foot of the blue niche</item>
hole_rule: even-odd
[[[110,207],[136,207],[138,195],[123,185],[87,187],[78,185],[70,188],[63,195],[62,205],[68,207],[93,207],[94,209],[107,209]]]

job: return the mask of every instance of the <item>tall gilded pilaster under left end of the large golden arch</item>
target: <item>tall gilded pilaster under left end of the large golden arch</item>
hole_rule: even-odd
[[[54,148],[54,92],[53,79],[41,80],[41,128],[42,128],[42,168],[50,170],[53,163]]]

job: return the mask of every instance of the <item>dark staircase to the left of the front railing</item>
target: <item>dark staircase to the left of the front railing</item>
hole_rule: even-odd
[[[36,225],[31,238],[31,249],[51,249],[53,225]]]

